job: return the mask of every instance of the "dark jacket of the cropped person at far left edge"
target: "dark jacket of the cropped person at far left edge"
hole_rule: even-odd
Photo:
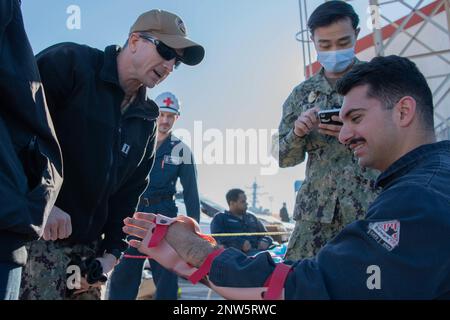
[[[62,183],[62,161],[17,0],[0,2],[0,261],[24,265]]]

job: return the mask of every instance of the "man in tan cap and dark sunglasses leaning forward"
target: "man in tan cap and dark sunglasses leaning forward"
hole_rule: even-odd
[[[203,57],[181,18],[162,10],[139,16],[123,48],[61,43],[37,55],[65,181],[43,239],[29,246],[22,299],[100,298],[154,162],[159,110],[146,90]]]

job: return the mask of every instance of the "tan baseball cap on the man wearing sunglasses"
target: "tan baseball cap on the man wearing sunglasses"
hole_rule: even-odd
[[[187,37],[183,20],[164,10],[151,10],[141,14],[130,28],[133,32],[146,32],[173,49],[184,49],[182,62],[194,66],[205,56],[205,49]]]

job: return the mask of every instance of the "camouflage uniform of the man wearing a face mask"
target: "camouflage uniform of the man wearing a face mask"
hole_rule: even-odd
[[[357,62],[361,63],[361,62]],[[373,170],[358,165],[353,153],[338,139],[316,130],[305,137],[294,134],[294,122],[313,107],[321,110],[342,106],[343,98],[332,88],[322,70],[297,86],[283,105],[279,126],[280,167],[302,163],[308,153],[306,178],[297,194],[286,258],[312,257],[350,222],[363,218],[375,199]]]

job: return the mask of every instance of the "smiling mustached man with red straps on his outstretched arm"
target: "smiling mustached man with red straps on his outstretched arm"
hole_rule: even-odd
[[[450,299],[450,141],[436,142],[425,77],[407,58],[377,57],[355,66],[337,91],[344,96],[339,140],[361,166],[381,171],[382,192],[364,219],[314,258],[287,265],[269,254],[222,252],[186,221],[170,224],[149,247],[154,217],[142,213],[125,220],[125,232],[145,237],[131,245],[185,275],[190,269],[175,262],[208,271],[210,286],[227,298]]]

